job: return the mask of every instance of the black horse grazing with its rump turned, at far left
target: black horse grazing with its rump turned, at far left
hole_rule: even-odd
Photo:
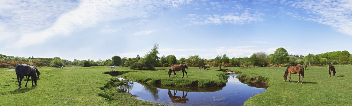
[[[27,87],[27,83],[28,83],[30,77],[32,77],[32,86],[34,86],[33,82],[37,85],[37,80],[38,80],[37,74],[39,75],[39,72],[37,73],[37,70],[38,69],[36,67],[28,66],[27,64],[17,65],[15,71],[16,71],[16,75],[17,75],[18,89],[22,88],[21,82],[22,82],[24,76],[26,76],[26,77],[28,76],[25,87]]]

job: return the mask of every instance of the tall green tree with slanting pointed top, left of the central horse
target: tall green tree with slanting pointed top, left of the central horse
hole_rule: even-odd
[[[151,51],[149,51],[144,59],[147,64],[150,65],[157,65],[159,62],[159,57],[157,56],[159,54],[158,52],[159,44],[155,43]]]

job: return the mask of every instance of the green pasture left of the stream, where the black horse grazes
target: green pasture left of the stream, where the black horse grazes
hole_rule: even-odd
[[[41,73],[38,85],[32,87],[29,84],[24,87],[26,81],[22,81],[23,89],[19,90],[15,71],[0,68],[0,105],[28,105],[29,102],[46,106],[157,105],[139,101],[129,93],[121,93],[114,89],[110,84],[112,82],[118,84],[118,80],[112,81],[112,76],[103,74],[109,71],[110,67],[73,66],[64,69],[51,67],[38,67],[38,69]],[[136,71],[129,70],[127,67],[118,67],[118,70]]]

